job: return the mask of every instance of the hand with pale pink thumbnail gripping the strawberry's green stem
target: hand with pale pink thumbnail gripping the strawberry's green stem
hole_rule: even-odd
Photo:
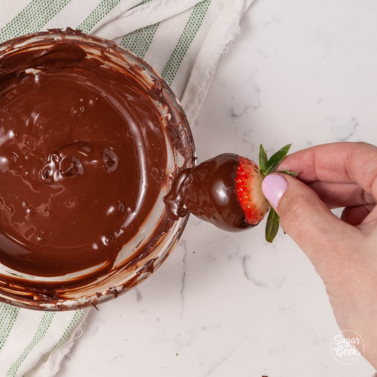
[[[360,334],[377,368],[377,147],[332,143],[287,156],[264,195],[322,278],[339,327]],[[330,208],[345,207],[341,219]],[[360,352],[362,350],[359,350]]]

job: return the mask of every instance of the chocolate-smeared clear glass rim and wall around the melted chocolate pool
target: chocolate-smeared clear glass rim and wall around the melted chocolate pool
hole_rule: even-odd
[[[17,57],[25,49],[43,51],[61,41],[78,44],[88,57],[106,57],[106,64],[126,70],[150,88],[159,87],[161,101],[152,95],[150,100],[161,114],[167,166],[166,179],[155,207],[134,238],[123,246],[110,271],[97,274],[94,268],[65,276],[40,277],[20,273],[0,262],[0,301],[49,311],[97,307],[140,284],[161,265],[178,242],[188,219],[188,215],[178,220],[170,218],[162,198],[175,175],[195,163],[192,133],[170,87],[145,61],[112,41],[72,29],[52,29],[18,37],[0,44],[0,73],[2,58]]]

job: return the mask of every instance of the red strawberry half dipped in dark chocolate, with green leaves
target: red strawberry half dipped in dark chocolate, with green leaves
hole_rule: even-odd
[[[251,228],[262,221],[270,204],[263,195],[263,178],[276,170],[291,145],[270,159],[260,146],[259,167],[246,157],[223,153],[184,170],[164,201],[174,216],[183,216],[186,208],[195,216],[227,231]],[[297,172],[284,171],[297,175]],[[184,204],[184,205],[183,205]],[[272,242],[279,228],[279,216],[273,208],[266,225],[266,239]]]

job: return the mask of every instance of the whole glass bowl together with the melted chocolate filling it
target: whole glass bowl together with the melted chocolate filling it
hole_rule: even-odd
[[[162,198],[193,167],[179,101],[143,60],[72,29],[0,44],[0,300],[97,305],[178,241]]]

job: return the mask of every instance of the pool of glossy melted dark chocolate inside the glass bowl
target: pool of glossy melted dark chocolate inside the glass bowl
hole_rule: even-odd
[[[160,95],[72,41],[0,59],[2,264],[111,267],[166,179]]]

